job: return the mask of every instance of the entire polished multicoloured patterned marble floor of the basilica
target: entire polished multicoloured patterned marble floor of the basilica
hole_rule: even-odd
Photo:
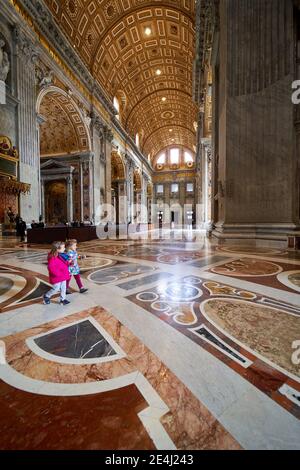
[[[47,249],[0,239],[0,449],[300,449],[298,252],[86,242],[61,307]]]

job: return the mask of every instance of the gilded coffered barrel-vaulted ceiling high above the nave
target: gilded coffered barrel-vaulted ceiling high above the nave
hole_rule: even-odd
[[[45,2],[110,97],[122,98],[122,124],[144,154],[194,151],[195,0]]]

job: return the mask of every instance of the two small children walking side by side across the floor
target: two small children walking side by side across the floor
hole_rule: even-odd
[[[78,259],[85,256],[77,252],[77,240],[68,240],[65,242],[54,242],[52,249],[48,254],[49,281],[52,289],[44,295],[44,304],[51,303],[51,297],[60,293],[60,305],[68,305],[67,295],[71,294],[70,282],[72,277],[77,283],[79,292],[84,294],[88,289],[84,288],[80,276],[80,267]]]

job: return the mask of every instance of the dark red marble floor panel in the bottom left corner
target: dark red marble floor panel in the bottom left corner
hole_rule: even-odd
[[[23,392],[0,381],[1,450],[155,449],[134,386],[78,397]]]

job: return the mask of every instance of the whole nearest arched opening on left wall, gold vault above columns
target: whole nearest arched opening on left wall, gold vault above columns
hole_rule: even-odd
[[[44,220],[48,224],[91,220],[91,141],[81,111],[64,90],[53,86],[40,93],[37,113]]]

